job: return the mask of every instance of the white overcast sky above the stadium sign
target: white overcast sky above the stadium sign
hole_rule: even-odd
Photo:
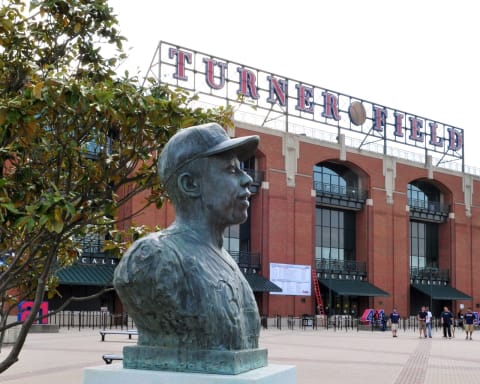
[[[480,168],[480,6],[458,0],[110,0],[144,75],[160,40],[465,131]],[[408,148],[407,148],[408,150]]]

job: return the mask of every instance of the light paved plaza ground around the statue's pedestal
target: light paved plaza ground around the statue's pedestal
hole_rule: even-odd
[[[120,354],[124,345],[134,343],[136,336],[129,340],[126,335],[106,335],[102,342],[98,329],[33,333],[20,361],[0,374],[0,383],[81,384],[85,367],[103,366],[103,354]],[[480,380],[480,332],[470,341],[459,329],[452,339],[444,339],[440,330],[420,339],[414,330],[401,330],[393,338],[389,331],[269,328],[262,330],[260,346],[268,348],[269,363],[296,366],[297,384]],[[4,347],[0,358],[8,351]]]

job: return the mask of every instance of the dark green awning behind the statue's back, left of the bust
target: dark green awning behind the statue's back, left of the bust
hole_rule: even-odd
[[[114,265],[74,264],[57,272],[60,284],[95,285],[111,287],[113,285]]]

